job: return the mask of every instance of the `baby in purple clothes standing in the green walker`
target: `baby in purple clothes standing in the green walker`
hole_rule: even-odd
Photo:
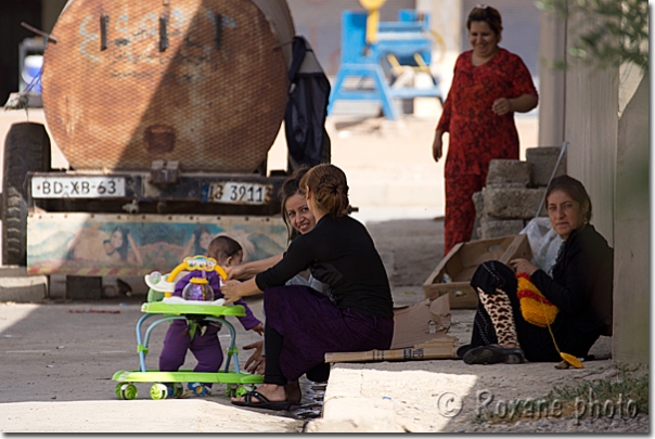
[[[219,266],[230,267],[241,263],[243,249],[241,245],[229,236],[215,237],[207,248],[207,256],[216,259]],[[176,283],[174,296],[182,296],[184,286],[192,277],[202,276],[203,272],[192,271]],[[210,271],[206,273],[209,286],[214,290],[214,300],[223,295],[220,293],[220,279],[218,273]],[[245,308],[246,314],[239,318],[245,330],[253,330],[259,335],[264,335],[264,325],[255,318],[253,311],[243,300],[237,300],[235,305]],[[197,360],[194,372],[218,372],[223,362],[223,352],[218,341],[217,333],[221,324],[218,322],[198,322],[176,319],[170,324],[164,338],[164,348],[159,356],[159,371],[177,372],[184,363],[187,351],[191,350]],[[211,384],[190,383],[189,390],[193,395],[209,395]],[[174,389],[169,386],[168,392],[174,395]]]

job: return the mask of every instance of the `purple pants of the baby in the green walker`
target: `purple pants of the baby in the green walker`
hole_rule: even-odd
[[[191,350],[197,360],[193,372],[218,372],[223,362],[223,352],[217,335],[220,327],[208,325],[201,335],[198,326],[193,339],[189,336],[188,328],[185,320],[172,321],[164,337],[164,348],[159,354],[159,371],[177,372],[184,364],[187,351]]]

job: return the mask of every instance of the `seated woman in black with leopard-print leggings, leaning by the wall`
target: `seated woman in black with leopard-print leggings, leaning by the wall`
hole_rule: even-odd
[[[467,364],[561,361],[560,352],[583,358],[599,336],[612,335],[614,250],[589,223],[589,195],[578,180],[561,176],[549,184],[545,199],[551,224],[564,240],[555,264],[551,273],[526,259],[511,260],[513,270],[498,261],[477,268],[471,280],[479,297],[471,345],[458,350]],[[547,324],[524,318],[517,276],[529,276],[557,307],[552,336]],[[532,304],[543,315],[541,305]]]

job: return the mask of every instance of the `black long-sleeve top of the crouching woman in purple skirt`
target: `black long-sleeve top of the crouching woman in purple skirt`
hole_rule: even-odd
[[[257,274],[255,282],[261,290],[282,286],[306,269],[330,285],[339,308],[364,315],[394,318],[394,301],[382,258],[371,235],[356,219],[325,215],[313,230],[291,243],[280,262]]]

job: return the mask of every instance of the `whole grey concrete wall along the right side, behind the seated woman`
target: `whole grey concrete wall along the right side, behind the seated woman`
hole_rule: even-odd
[[[562,41],[568,46],[580,29],[599,25],[591,18],[562,26],[551,16],[541,23],[544,57],[556,57]],[[542,96],[550,99],[540,103],[540,143],[557,140],[563,125],[567,171],[585,183],[592,222],[615,249],[613,359],[647,364],[648,79],[637,68],[601,70],[571,61],[564,77],[542,77]]]

